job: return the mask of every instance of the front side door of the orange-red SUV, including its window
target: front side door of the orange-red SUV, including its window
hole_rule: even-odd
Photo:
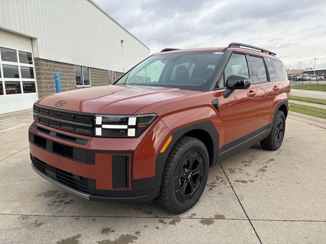
[[[245,54],[233,53],[224,69],[219,87],[226,84],[230,75],[250,77]],[[229,97],[219,96],[220,142],[221,151],[248,140],[256,128],[257,96],[256,85],[248,89],[233,90]]]

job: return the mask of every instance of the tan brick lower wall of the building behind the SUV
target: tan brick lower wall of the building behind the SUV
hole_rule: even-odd
[[[39,98],[56,92],[55,73],[60,74],[62,92],[77,88],[74,65],[37,57],[34,58],[34,63]],[[90,68],[90,79],[91,86],[107,85],[108,71]]]

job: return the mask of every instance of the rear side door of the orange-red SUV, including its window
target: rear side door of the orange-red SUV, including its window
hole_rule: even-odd
[[[269,58],[249,56],[253,82],[257,87],[257,124],[256,134],[268,129],[270,110],[278,94],[279,85]]]

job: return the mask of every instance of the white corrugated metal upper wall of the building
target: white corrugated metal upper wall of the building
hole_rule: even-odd
[[[37,38],[35,57],[63,63],[125,72],[149,55],[88,0],[1,0],[0,27]]]

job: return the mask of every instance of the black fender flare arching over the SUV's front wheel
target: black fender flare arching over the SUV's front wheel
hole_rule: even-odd
[[[219,133],[214,127],[214,125],[209,120],[200,121],[198,123],[194,123],[191,125],[187,125],[185,127],[181,127],[175,131],[172,131],[172,141],[164,151],[164,153],[158,153],[156,156],[156,164],[155,164],[155,186],[161,185],[162,174],[164,171],[165,164],[169,157],[170,151],[175,145],[175,143],[187,132],[193,130],[203,130],[207,132],[213,143],[213,152],[211,157],[211,166],[216,164],[216,160],[218,158],[218,145],[219,145]]]

